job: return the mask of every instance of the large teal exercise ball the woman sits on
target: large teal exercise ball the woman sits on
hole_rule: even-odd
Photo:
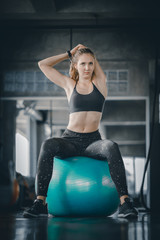
[[[75,156],[54,158],[48,187],[48,212],[54,216],[109,216],[119,196],[107,161]]]

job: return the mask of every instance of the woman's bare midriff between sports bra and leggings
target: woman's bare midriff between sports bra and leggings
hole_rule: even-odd
[[[67,129],[80,133],[94,132],[99,128],[101,117],[102,113],[95,111],[71,113]]]

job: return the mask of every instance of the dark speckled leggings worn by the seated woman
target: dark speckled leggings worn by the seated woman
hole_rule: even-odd
[[[37,195],[47,196],[53,171],[53,158],[72,156],[107,160],[119,197],[128,195],[125,168],[118,145],[107,139],[102,140],[99,130],[78,133],[69,129],[66,129],[59,138],[45,140],[41,146],[37,170]]]

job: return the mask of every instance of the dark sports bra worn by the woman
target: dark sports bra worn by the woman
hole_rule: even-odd
[[[92,84],[93,91],[91,93],[80,94],[76,90],[76,82],[69,101],[70,113],[81,111],[103,111],[105,97],[100,93],[95,84]]]

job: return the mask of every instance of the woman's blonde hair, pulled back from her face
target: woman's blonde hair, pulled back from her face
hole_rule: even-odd
[[[69,76],[76,82],[79,80],[79,74],[74,65],[78,62],[78,58],[82,54],[90,54],[95,59],[95,55],[90,48],[80,48],[75,52],[75,54],[72,56],[72,61],[69,69]],[[94,75],[95,75],[95,72],[93,71],[92,78]]]

